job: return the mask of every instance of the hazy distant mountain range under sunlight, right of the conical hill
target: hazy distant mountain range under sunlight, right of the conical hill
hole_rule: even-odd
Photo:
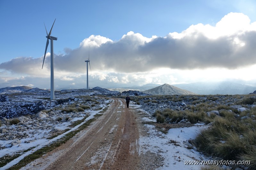
[[[195,82],[189,84],[173,84],[173,86],[192,91],[199,95],[244,95],[252,93],[256,87],[230,81],[222,82]]]

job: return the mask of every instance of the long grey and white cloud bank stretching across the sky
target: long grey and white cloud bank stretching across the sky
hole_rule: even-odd
[[[141,79],[147,72],[159,68],[237,69],[256,64],[255,44],[256,22],[251,23],[243,13],[231,12],[215,26],[191,25],[181,33],[168,33],[165,37],[154,35],[148,38],[130,31],[120,40],[112,41],[91,35],[77,49],[54,55],[54,73],[60,81],[72,84],[74,75],[85,73],[85,60],[89,55],[93,78],[109,83],[136,81],[136,77]],[[42,62],[43,55],[40,58],[14,58],[1,63],[0,69],[27,76],[49,77],[50,53],[46,55],[43,70]],[[3,78],[3,74],[0,76]],[[144,81],[147,82],[145,78]]]

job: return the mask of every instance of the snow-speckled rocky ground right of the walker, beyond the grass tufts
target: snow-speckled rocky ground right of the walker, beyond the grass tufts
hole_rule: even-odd
[[[206,103],[212,108],[218,106],[229,106],[229,108],[237,110],[237,112],[233,112],[232,110],[228,110],[229,112],[233,112],[237,117],[239,117],[239,113],[244,111],[250,111],[251,108],[256,107],[256,102],[252,102],[252,104],[236,104],[241,102],[246,97],[252,98],[252,100],[256,101],[255,95],[184,95],[184,96],[161,96],[161,97],[134,97],[136,101],[139,102],[142,109],[146,112],[153,114],[156,110],[163,111],[166,108],[183,111],[191,109],[191,106],[197,106],[202,103]],[[207,112],[207,115],[210,114],[219,115],[218,110],[212,110]],[[244,116],[241,119],[246,119],[248,116]],[[251,115],[251,118],[255,119],[254,115]],[[182,120],[180,120],[182,121]],[[255,120],[253,120],[255,121]],[[177,121],[175,123],[178,123]]]

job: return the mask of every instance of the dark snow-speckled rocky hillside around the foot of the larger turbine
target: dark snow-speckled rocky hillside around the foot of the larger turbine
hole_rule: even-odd
[[[146,96],[139,91],[111,91],[100,87],[93,89],[70,89],[55,91],[55,100],[50,99],[50,91],[27,86],[0,89],[0,119],[36,114],[64,102],[73,101],[76,96]]]

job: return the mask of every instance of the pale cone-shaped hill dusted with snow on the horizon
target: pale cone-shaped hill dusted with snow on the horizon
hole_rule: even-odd
[[[152,95],[195,95],[195,93],[177,88],[169,84],[163,84],[153,89],[145,90],[143,93]]]

